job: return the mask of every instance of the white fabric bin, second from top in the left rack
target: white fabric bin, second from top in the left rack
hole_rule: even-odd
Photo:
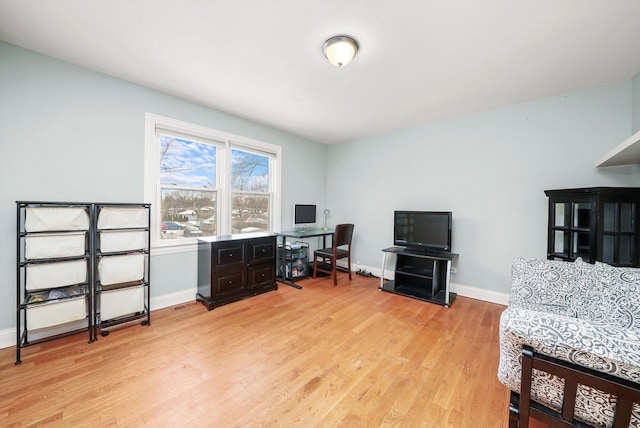
[[[25,258],[30,260],[83,256],[86,249],[86,236],[86,233],[26,236],[24,241]]]

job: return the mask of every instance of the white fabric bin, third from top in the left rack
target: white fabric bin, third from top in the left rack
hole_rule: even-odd
[[[26,269],[26,290],[65,287],[87,282],[86,260],[29,264]]]

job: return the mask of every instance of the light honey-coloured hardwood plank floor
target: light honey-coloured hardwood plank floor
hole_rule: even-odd
[[[506,427],[503,306],[305,280],[151,326],[0,350],[0,426]]]

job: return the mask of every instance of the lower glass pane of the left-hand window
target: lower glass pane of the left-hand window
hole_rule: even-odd
[[[216,235],[215,191],[161,189],[161,239]]]

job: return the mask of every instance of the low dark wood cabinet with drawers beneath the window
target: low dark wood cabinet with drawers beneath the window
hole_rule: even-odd
[[[275,236],[230,235],[198,240],[196,300],[209,310],[277,290]]]

